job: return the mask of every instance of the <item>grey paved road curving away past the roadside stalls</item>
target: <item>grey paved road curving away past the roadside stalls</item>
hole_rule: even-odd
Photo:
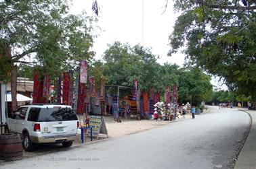
[[[229,168],[249,122],[245,112],[211,108],[196,119],[5,162],[0,168]]]

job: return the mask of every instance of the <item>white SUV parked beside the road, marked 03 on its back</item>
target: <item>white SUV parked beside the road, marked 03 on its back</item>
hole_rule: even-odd
[[[20,133],[23,147],[32,151],[36,143],[62,143],[70,147],[77,138],[79,121],[71,106],[33,104],[21,106],[8,118],[9,130]]]

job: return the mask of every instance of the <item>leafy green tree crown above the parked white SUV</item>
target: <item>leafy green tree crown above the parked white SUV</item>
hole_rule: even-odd
[[[1,79],[18,63],[54,75],[93,57],[93,19],[69,7],[69,0],[0,1]]]

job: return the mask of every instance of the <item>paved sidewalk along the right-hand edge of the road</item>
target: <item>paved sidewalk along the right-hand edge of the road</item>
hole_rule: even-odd
[[[234,169],[256,169],[256,110],[242,110],[251,115],[251,131],[245,141]]]

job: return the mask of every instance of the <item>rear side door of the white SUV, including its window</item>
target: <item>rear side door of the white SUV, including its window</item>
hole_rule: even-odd
[[[22,133],[22,130],[24,129],[24,120],[27,110],[28,107],[21,107],[15,112],[16,132],[18,133]]]

